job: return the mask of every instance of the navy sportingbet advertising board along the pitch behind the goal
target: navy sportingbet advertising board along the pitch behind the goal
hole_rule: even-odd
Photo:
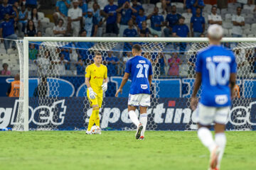
[[[42,99],[42,98],[41,98]],[[53,126],[55,130],[85,130],[91,109],[84,113],[83,97],[57,98],[48,106],[39,106],[40,98],[29,100],[29,128],[40,129]],[[236,99],[242,100],[242,99]],[[104,99],[100,111],[103,130],[130,130],[134,128],[127,112],[127,98]],[[0,97],[0,128],[12,128],[16,122],[18,98]],[[152,130],[196,130],[196,111],[191,111],[188,98],[159,98],[155,108],[148,109],[149,124]],[[242,103],[234,101],[234,103]],[[52,113],[53,111],[57,111]],[[88,115],[88,116],[85,116]],[[137,113],[138,114],[138,113]],[[54,116],[54,118],[53,118]],[[248,106],[233,106],[228,117],[227,130],[256,130],[256,98]]]

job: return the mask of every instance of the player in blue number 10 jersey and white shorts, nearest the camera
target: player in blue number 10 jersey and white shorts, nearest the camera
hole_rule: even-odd
[[[219,170],[226,137],[231,98],[235,86],[237,64],[235,55],[220,45],[223,28],[217,24],[208,28],[209,47],[197,54],[196,81],[191,96],[191,108],[198,116],[198,138],[210,151],[210,170]],[[202,86],[198,103],[196,94]],[[214,123],[215,140],[210,132]]]

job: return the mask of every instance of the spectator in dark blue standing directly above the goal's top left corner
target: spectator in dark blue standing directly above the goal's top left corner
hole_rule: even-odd
[[[18,35],[23,36],[23,33],[25,32],[26,24],[28,20],[28,11],[26,11],[26,6],[21,4],[21,11],[18,13]]]

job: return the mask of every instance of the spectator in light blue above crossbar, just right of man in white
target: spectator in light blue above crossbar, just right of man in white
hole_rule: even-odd
[[[83,17],[83,29],[86,30],[87,37],[96,37],[97,35],[98,22],[92,12],[91,8],[88,9],[87,15]]]

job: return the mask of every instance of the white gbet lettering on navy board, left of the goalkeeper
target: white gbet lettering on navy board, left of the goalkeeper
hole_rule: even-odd
[[[8,125],[18,125],[18,103],[16,100],[14,108],[0,108],[0,128],[6,128]],[[29,108],[29,123],[35,125],[63,125],[65,120],[66,108],[65,100],[55,101],[51,106],[38,106]],[[21,115],[19,115],[21,116]]]

